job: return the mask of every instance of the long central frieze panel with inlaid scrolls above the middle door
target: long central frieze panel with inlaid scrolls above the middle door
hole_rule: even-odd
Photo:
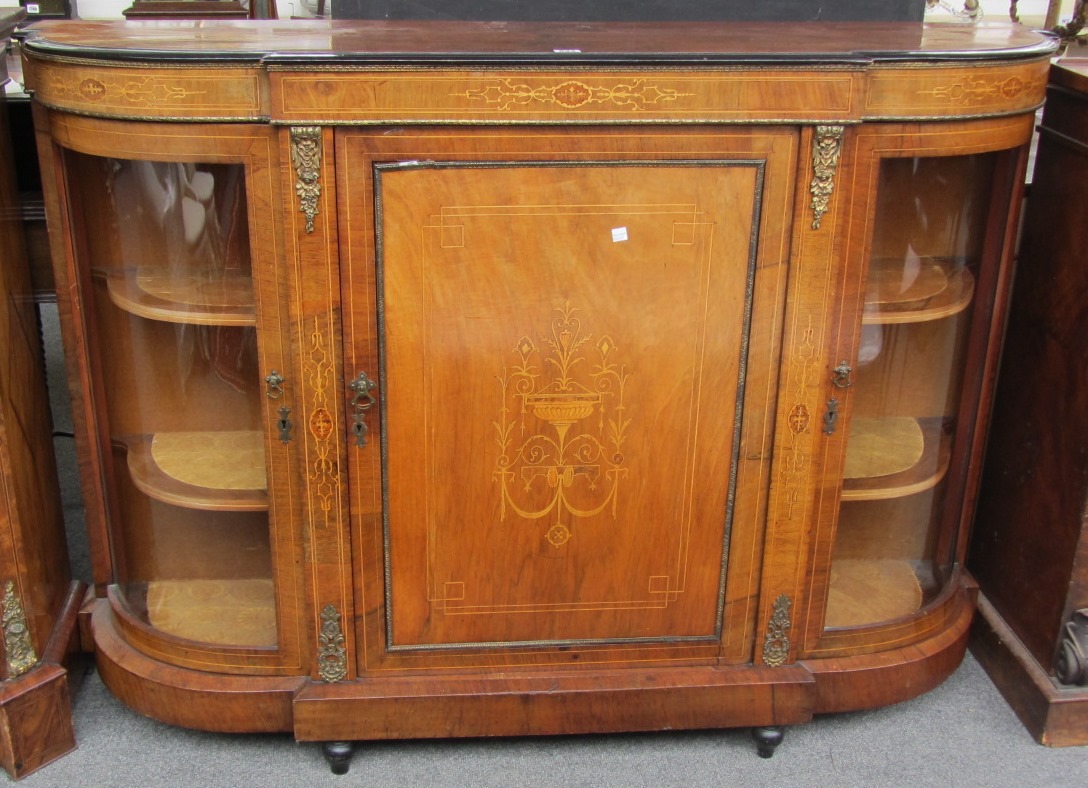
[[[271,72],[289,123],[832,121],[856,116],[861,74],[670,72]]]

